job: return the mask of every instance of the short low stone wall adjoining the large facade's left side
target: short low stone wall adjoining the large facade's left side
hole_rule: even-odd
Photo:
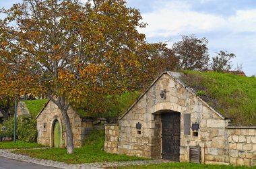
[[[117,154],[118,143],[119,143],[118,124],[106,124],[104,150],[106,152]]]

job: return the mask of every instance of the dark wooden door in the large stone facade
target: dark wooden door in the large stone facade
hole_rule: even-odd
[[[181,113],[162,114],[162,158],[179,162]]]

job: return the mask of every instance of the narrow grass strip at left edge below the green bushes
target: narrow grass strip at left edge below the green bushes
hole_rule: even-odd
[[[0,149],[20,149],[20,148],[42,148],[44,146],[36,143],[27,143],[23,141],[0,142]]]

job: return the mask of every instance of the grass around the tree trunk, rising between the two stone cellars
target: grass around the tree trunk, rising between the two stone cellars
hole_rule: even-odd
[[[139,158],[135,156],[109,154],[102,150],[103,147],[104,131],[98,130],[94,131],[88,139],[86,139],[85,146],[82,148],[75,148],[73,154],[67,154],[67,150],[65,148],[53,148],[47,150],[16,150],[14,152],[34,158],[65,162],[67,164],[146,160],[146,158]]]

